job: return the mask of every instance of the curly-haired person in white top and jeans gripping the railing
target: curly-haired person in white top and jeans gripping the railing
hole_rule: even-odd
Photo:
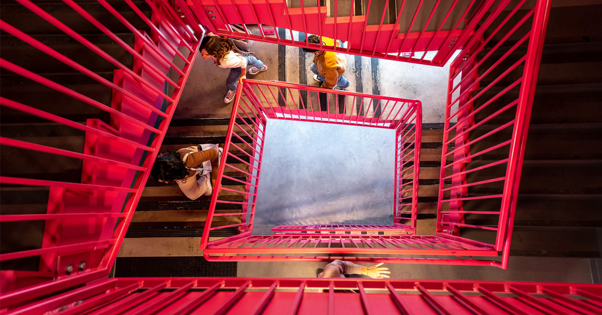
[[[211,58],[216,66],[230,68],[230,73],[226,78],[226,86],[229,89],[224,98],[226,103],[232,102],[232,99],[234,99],[236,87],[244,79],[247,66],[252,66],[249,69],[249,74],[267,70],[267,66],[261,60],[255,58],[252,53],[247,54],[235,48],[229,42],[228,37],[206,36],[200,43],[199,48],[203,59]]]

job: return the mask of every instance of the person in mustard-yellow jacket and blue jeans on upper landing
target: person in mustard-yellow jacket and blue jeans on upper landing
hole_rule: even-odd
[[[320,44],[320,37],[310,35],[308,42]],[[324,46],[332,47],[333,43],[333,39],[322,36],[322,44]],[[314,72],[314,80],[322,83],[321,87],[337,90],[344,90],[349,87],[349,81],[343,76],[347,67],[347,61],[343,54],[309,48],[303,48],[303,50],[314,54],[314,63],[309,67],[309,70]]]

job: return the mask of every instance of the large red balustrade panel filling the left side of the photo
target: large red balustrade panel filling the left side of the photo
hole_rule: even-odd
[[[57,36],[69,38],[78,49],[56,48],[63,49],[59,52],[53,48],[56,46],[47,45],[48,41],[39,40],[39,34],[25,28],[20,30],[11,25],[14,21],[2,20],[0,29],[7,39],[19,41],[19,45],[25,45],[32,55],[48,58],[48,63],[72,69],[73,76],[85,76],[97,84],[99,90],[105,89],[108,97],[104,99],[110,99],[110,102],[99,100],[100,96],[96,94],[90,96],[76,84],[56,81],[58,75],[31,69],[33,66],[14,55],[2,56],[3,74],[19,75],[37,90],[52,91],[61,99],[60,104],[54,104],[54,99],[36,102],[36,99],[9,93],[10,87],[3,88],[0,92],[3,123],[17,117],[26,123],[34,122],[31,128],[42,124],[67,135],[78,135],[83,141],[82,149],[78,151],[70,142],[73,137],[61,137],[60,134],[53,141],[36,140],[37,134],[22,137],[11,132],[0,137],[2,150],[23,157],[43,154],[49,164],[69,158],[70,163],[81,166],[81,178],[75,180],[61,176],[49,179],[47,174],[35,172],[0,176],[3,189],[21,190],[29,199],[48,193],[43,212],[33,211],[28,205],[20,207],[20,204],[2,208],[0,222],[4,231],[27,231],[23,239],[33,238],[32,231],[43,231],[43,236],[33,246],[19,245],[20,242],[13,242],[13,239],[2,240],[2,308],[17,307],[28,299],[108,276],[202,36],[202,28],[193,15],[182,20],[177,9],[167,2],[134,4],[126,0],[116,4],[99,0],[95,4],[81,5],[65,1],[64,8],[58,12],[29,0],[16,2],[12,4],[15,10],[19,6],[19,10],[34,16],[32,20],[36,23],[49,24],[58,32]],[[70,15],[61,14],[62,11],[68,11]],[[126,13],[129,20],[123,16]],[[95,17],[102,14],[114,19]],[[98,35],[80,34],[78,25],[67,25],[73,24],[67,17],[87,21]],[[124,33],[123,30],[128,31]],[[111,45],[122,49],[126,57],[113,57],[114,52],[107,45],[96,42],[99,37],[109,39]],[[94,60],[114,67],[110,73],[112,80],[111,75],[99,74],[93,68],[95,65],[84,66],[82,52],[87,58],[96,58]],[[11,116],[6,116],[8,114]],[[3,130],[10,131],[13,127],[6,128]],[[22,167],[28,169],[29,166]],[[3,171],[4,174],[15,173],[14,169]],[[101,281],[85,292],[104,292],[114,282]]]

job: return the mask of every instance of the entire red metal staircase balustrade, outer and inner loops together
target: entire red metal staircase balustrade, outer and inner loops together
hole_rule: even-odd
[[[314,314],[317,310],[328,314],[602,312],[600,285],[370,279],[108,279],[110,268],[148,178],[147,170],[158,154],[194,63],[199,39],[203,36],[203,28],[200,25],[206,25],[217,34],[232,35],[234,33],[229,27],[232,23],[243,24],[245,32],[237,33],[236,36],[239,37],[435,66],[442,66],[450,60],[456,49],[462,49],[451,68],[443,141],[445,145],[453,143],[455,146],[450,148],[449,152],[444,146],[437,235],[418,237],[311,233],[322,232],[321,226],[296,227],[302,229],[302,232],[309,232],[305,233],[306,235],[296,235],[297,231],[275,235],[251,235],[255,211],[255,200],[251,196],[256,196],[258,186],[265,119],[297,119],[396,129],[396,154],[401,158],[396,160],[396,169],[399,172],[396,172],[395,176],[399,185],[396,186],[396,215],[391,226],[410,233],[415,229],[417,169],[420,164],[418,143],[421,128],[420,103],[415,100],[402,100],[399,111],[405,111],[399,114],[399,111],[395,113],[394,109],[397,108],[394,104],[391,104],[389,112],[386,111],[388,104],[383,104],[385,101],[397,103],[399,99],[385,96],[375,98],[353,92],[326,93],[294,84],[246,80],[244,84],[239,85],[240,89],[237,91],[237,101],[233,107],[226,142],[226,154],[222,157],[218,182],[227,176],[224,175],[224,169],[232,167],[227,162],[228,156],[238,158],[237,154],[229,152],[228,149],[244,143],[253,152],[248,154],[248,162],[243,160],[248,167],[241,171],[246,172],[247,176],[245,179],[226,179],[241,182],[244,191],[237,191],[249,196],[249,199],[244,202],[245,207],[241,213],[223,213],[244,217],[243,222],[235,226],[239,232],[235,237],[208,242],[211,231],[229,227],[211,226],[211,219],[208,220],[202,243],[203,248],[206,247],[205,255],[208,259],[324,261],[334,257],[322,257],[317,254],[340,254],[343,259],[356,261],[479,264],[506,268],[549,1],[540,0],[536,2],[535,7],[525,8],[522,6],[526,1],[510,4],[509,0],[502,0],[495,6],[495,1],[473,0],[469,4],[458,4],[459,1],[454,1],[450,7],[443,10],[442,15],[437,11],[443,8],[441,1],[434,4],[420,1],[417,7],[409,10],[408,16],[411,16],[411,19],[406,19],[402,18],[405,16],[403,14],[407,15],[403,9],[406,5],[404,0],[400,3],[395,23],[384,23],[383,11],[378,24],[368,22],[370,2],[365,7],[365,12],[357,15],[350,12],[349,16],[338,16],[337,1],[334,12],[329,12],[329,6],[317,5],[308,8],[303,7],[302,2],[300,8],[289,8],[283,1],[259,0],[126,0],[125,3],[99,0],[94,4],[71,0],[64,2],[64,5],[61,4],[61,10],[56,12],[52,10],[53,7],[29,0],[16,0],[8,5],[13,5],[11,8],[15,11],[23,10],[30,14],[32,19],[27,21],[27,27],[37,25],[36,23],[50,25],[52,31],[57,32],[50,36],[66,34],[73,43],[85,49],[85,57],[99,57],[103,62],[111,64],[111,67],[114,66],[111,68],[114,69],[113,73],[99,71],[93,65],[84,66],[85,60],[79,58],[79,50],[74,50],[75,53],[72,54],[63,54],[58,48],[55,50],[51,44],[39,40],[38,38],[43,37],[40,37],[40,34],[31,29],[20,30],[15,26],[15,22],[18,21],[10,20],[10,14],[3,14],[0,29],[11,36],[10,40],[25,42],[37,52],[49,56],[52,61],[48,63],[58,61],[61,66],[75,69],[85,80],[92,80],[108,89],[111,97],[107,101],[94,93],[87,93],[89,91],[82,89],[81,84],[65,81],[61,73],[40,70],[42,66],[39,64],[40,68],[29,69],[28,63],[19,62],[22,60],[19,57],[22,56],[18,54],[2,55],[0,67],[2,75],[6,75],[3,80],[19,78],[23,82],[33,84],[35,89],[43,92],[39,95],[46,97],[41,101],[36,99],[39,102],[30,104],[28,101],[35,99],[31,98],[31,95],[26,95],[16,87],[3,86],[0,95],[2,124],[11,126],[11,123],[19,123],[21,127],[25,125],[25,129],[40,126],[60,127],[51,128],[51,134],[57,133],[57,130],[62,132],[61,128],[75,129],[76,133],[82,135],[83,145],[81,151],[78,151],[64,146],[64,143],[52,145],[48,139],[28,140],[20,136],[21,129],[19,133],[15,133],[16,136],[2,134],[0,137],[2,150],[16,150],[16,156],[29,151],[35,151],[40,156],[46,154],[43,155],[43,162],[48,163],[49,167],[55,167],[57,161],[64,164],[73,163],[73,160],[69,159],[81,163],[81,176],[75,181],[66,175],[48,178],[19,173],[20,169],[28,169],[28,159],[23,159],[22,164],[18,164],[19,160],[10,160],[11,165],[18,167],[2,170],[0,189],[3,190],[3,194],[19,191],[25,192],[25,199],[33,199],[39,197],[34,191],[46,192],[48,202],[41,211],[39,207],[31,207],[27,202],[2,209],[2,233],[7,234],[3,234],[3,248],[0,252],[0,314],[282,314],[287,310],[289,314]],[[353,8],[353,1],[351,4]],[[389,7],[388,1],[384,7]],[[66,15],[61,15],[65,12]],[[427,14],[424,14],[425,12]],[[57,16],[60,18],[57,19]],[[85,27],[82,23],[72,25],[66,20],[61,20],[64,16],[76,16],[88,24],[85,24]],[[426,19],[422,18],[426,16]],[[134,18],[137,22],[134,22]],[[118,23],[113,24],[115,21]],[[430,24],[431,21],[436,21],[433,24],[434,28]],[[509,24],[506,25],[507,22]],[[250,34],[246,24],[257,25],[260,34]],[[264,25],[286,28],[291,38],[279,38],[277,32],[275,37],[266,36]],[[93,27],[97,33],[86,33],[90,31],[88,27]],[[129,36],[132,36],[131,43],[122,39],[125,37],[124,30],[128,30]],[[333,37],[347,42],[347,45],[346,48],[340,49],[310,45],[294,40],[293,31]],[[522,37],[514,38],[515,31],[518,31],[517,34],[523,32]],[[356,36],[359,33],[361,36]],[[110,39],[111,44],[123,49],[127,57],[115,57],[105,52],[99,47],[102,44],[92,39],[96,36]],[[490,49],[489,54],[492,54],[501,47],[501,50],[507,49],[510,55],[527,38],[528,49],[525,54],[518,56],[515,63],[497,62],[486,72],[482,72],[482,67],[479,68],[483,60],[488,58],[483,57],[483,52],[488,56],[486,49]],[[506,45],[506,39],[510,39],[513,45]],[[434,52],[434,57],[430,60],[424,57],[426,54],[412,55],[417,51]],[[404,57],[402,52],[409,52],[410,57]],[[495,77],[489,81],[483,80],[489,73]],[[514,76],[514,79],[506,81],[506,75],[508,78]],[[495,89],[500,89],[500,86],[496,86],[497,83],[509,85],[501,87],[501,92],[496,95],[485,93],[494,86]],[[256,92],[253,92],[253,87],[256,88]],[[270,90],[269,87],[273,89]],[[303,102],[281,107],[276,96],[282,93],[282,90],[299,93],[298,99]],[[301,97],[300,91],[303,90],[307,92],[305,100]],[[497,112],[485,117],[485,121],[491,120],[499,124],[488,126],[489,129],[480,131],[479,136],[474,137],[474,133],[471,132],[482,126],[479,121],[483,120],[476,121],[473,117],[481,108],[489,106],[498,96],[510,90],[518,90],[518,99],[501,105]],[[276,96],[265,94],[267,91],[270,91],[270,94],[276,91]],[[321,93],[332,94],[332,103],[330,97],[324,99],[320,96]],[[342,101],[340,96],[343,96]],[[479,99],[480,96],[483,98]],[[348,104],[346,98],[354,99]],[[355,102],[355,98],[363,100],[358,103]],[[370,101],[364,104],[368,99]],[[363,104],[362,106],[367,105],[369,108],[374,99],[382,109],[382,114],[368,113],[353,107],[355,104]],[[315,102],[318,107],[315,110],[312,105],[308,107],[307,101]],[[240,107],[241,110],[238,111],[240,102],[246,107],[244,110]],[[270,102],[273,104],[266,105]],[[324,102],[326,110],[323,110]],[[456,102],[459,102],[458,110],[452,113]],[[89,108],[93,108],[94,114],[90,114]],[[510,108],[515,108],[515,114],[512,116],[514,118],[501,122],[494,119],[498,113]],[[391,113],[395,114],[383,117],[387,113],[389,116]],[[454,115],[458,116],[459,123],[450,127],[450,120]],[[512,129],[509,139],[500,140],[494,145],[479,143],[481,139],[505,128]],[[234,133],[235,129],[238,133]],[[241,142],[232,141],[234,138]],[[503,146],[509,146],[509,149],[501,153],[497,151]],[[503,157],[486,165],[474,163],[478,155],[492,151],[495,151],[496,157]],[[452,164],[447,164],[447,157],[453,157]],[[467,175],[501,164],[506,164],[503,178],[483,179]],[[410,178],[411,181],[405,181]],[[452,179],[452,186],[445,186],[446,179]],[[486,193],[475,192],[469,188],[494,182],[503,182],[503,186],[486,187]],[[220,202],[217,193],[220,189],[227,190],[224,187],[216,187],[211,201],[211,216],[222,214],[216,210],[216,204]],[[496,189],[501,189],[501,193]],[[45,197],[43,193],[40,195]],[[488,210],[487,213],[468,210],[468,202],[492,198],[501,199],[499,210]],[[496,216],[498,227],[467,223],[467,220],[474,219],[471,217],[473,214]],[[344,227],[347,228],[349,226]],[[281,229],[288,232],[284,228]],[[326,229],[328,232],[333,230],[332,227]],[[337,227],[334,228],[334,232],[344,229]],[[364,229],[366,228],[363,226],[359,228],[360,231]],[[371,226],[370,229],[386,231],[387,228]],[[489,235],[489,239],[481,239],[481,234],[475,236],[467,231],[469,229],[494,231],[494,237]],[[36,231],[41,232],[40,239],[35,239],[33,234]],[[5,239],[4,235],[11,235],[11,239]],[[27,243],[31,239],[39,244],[31,246]],[[4,246],[7,246],[7,249]],[[236,256],[238,254],[241,255]],[[358,254],[367,257],[356,257]],[[386,256],[388,254],[391,256]],[[447,257],[459,255],[464,258],[400,256],[433,254]],[[471,256],[500,259],[473,259]],[[314,289],[316,292],[310,292]],[[347,293],[349,291],[343,293],[340,290],[355,290],[357,294]]]

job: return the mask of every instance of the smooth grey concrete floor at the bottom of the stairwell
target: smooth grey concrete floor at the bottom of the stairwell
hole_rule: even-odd
[[[268,120],[255,222],[393,223],[395,131]]]

